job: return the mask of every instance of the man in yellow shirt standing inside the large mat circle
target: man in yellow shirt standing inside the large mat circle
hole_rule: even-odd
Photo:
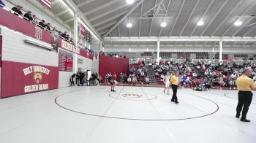
[[[173,75],[173,77],[170,78],[170,84],[172,85],[173,88],[173,98],[171,101],[175,102],[176,104],[178,104],[178,98],[177,98],[177,90],[178,90],[178,71],[175,72],[175,74]]]

